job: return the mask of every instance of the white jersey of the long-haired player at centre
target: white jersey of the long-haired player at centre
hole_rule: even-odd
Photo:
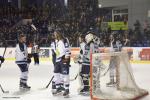
[[[66,54],[66,48],[63,40],[59,40],[56,42],[56,62],[62,60],[62,57]]]

